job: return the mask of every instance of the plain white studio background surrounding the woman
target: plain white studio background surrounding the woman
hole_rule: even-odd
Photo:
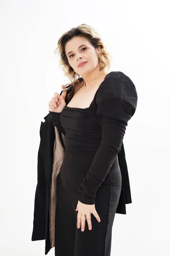
[[[0,1],[0,255],[45,255],[45,240],[31,241],[40,124],[69,82],[57,41],[82,23],[99,32],[111,71],[138,93],[124,138],[133,203],[116,214],[111,256],[170,255],[168,16],[165,0]]]

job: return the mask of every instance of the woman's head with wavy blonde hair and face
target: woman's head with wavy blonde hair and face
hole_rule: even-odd
[[[58,40],[58,47],[54,51],[60,56],[60,65],[64,75],[72,82],[72,88],[79,84],[80,76],[94,79],[103,69],[110,69],[110,55],[105,49],[102,39],[95,29],[86,24],[77,26],[64,33]],[[79,66],[81,62],[86,64]],[[108,72],[102,74],[104,79]],[[86,82],[87,84],[88,82]],[[95,83],[94,83],[95,84]],[[91,82],[91,86],[93,82]]]

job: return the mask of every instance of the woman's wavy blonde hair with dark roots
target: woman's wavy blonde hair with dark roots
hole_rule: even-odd
[[[96,32],[95,29],[92,27],[86,25],[86,24],[81,24],[77,26],[76,28],[71,28],[68,32],[65,32],[58,40],[58,47],[57,49],[54,50],[54,55],[58,52],[60,55],[60,61],[59,64],[62,67],[62,70],[64,71],[64,76],[68,76],[71,81],[73,79],[73,68],[70,66],[68,63],[68,58],[65,54],[65,44],[73,37],[75,36],[83,36],[86,37],[91,45],[93,45],[95,48],[99,47],[101,48],[100,51],[100,71],[103,68],[108,68],[110,69],[111,66],[111,61],[110,61],[110,54],[108,51],[105,50],[105,46],[102,42],[102,39],[99,37],[99,34]],[[78,78],[75,77],[73,83],[71,84],[73,87],[75,87],[77,84],[79,84],[79,74],[76,74]]]

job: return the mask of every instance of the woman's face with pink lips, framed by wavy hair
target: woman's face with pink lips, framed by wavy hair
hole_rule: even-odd
[[[99,70],[99,52],[100,47],[95,49],[85,37],[76,36],[65,44],[68,63],[82,77]],[[86,61],[86,64],[79,67],[78,64],[82,61]]]

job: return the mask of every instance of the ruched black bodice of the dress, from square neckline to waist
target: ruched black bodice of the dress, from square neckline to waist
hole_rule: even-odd
[[[65,151],[82,154],[99,148],[102,137],[95,104],[85,109],[66,106],[60,121],[65,129]]]

